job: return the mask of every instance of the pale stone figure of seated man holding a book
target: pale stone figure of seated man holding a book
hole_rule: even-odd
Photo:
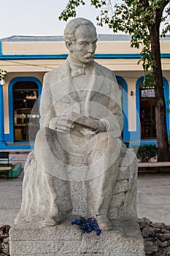
[[[76,208],[74,214],[96,217],[101,230],[111,230],[122,146],[120,89],[114,72],[93,60],[97,34],[90,20],[69,21],[64,41],[66,62],[45,74],[41,128],[26,162],[18,219],[42,215],[44,225],[55,226]]]

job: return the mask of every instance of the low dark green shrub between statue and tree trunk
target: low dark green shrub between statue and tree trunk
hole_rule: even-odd
[[[132,146],[132,148],[134,148],[134,152],[141,162],[150,162],[150,159],[157,155],[155,145]]]

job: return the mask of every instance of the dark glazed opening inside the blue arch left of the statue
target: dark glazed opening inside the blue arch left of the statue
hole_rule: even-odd
[[[39,88],[33,81],[18,81],[12,87],[15,141],[33,141],[35,138],[39,129],[39,110],[36,103],[38,94]],[[34,127],[31,129],[31,136],[28,133],[30,122],[31,127]]]

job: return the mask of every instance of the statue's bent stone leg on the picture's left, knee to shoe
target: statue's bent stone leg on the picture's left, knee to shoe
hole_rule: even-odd
[[[63,161],[64,157],[66,157],[60,147],[57,133],[54,130],[49,128],[39,130],[36,135],[35,154],[47,184],[47,200],[50,203],[50,208],[44,221],[47,226],[58,225],[66,218],[66,214],[72,211],[69,181],[58,178],[58,157],[61,157]]]

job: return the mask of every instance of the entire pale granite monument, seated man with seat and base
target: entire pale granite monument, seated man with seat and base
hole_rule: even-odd
[[[142,256],[137,160],[120,140],[123,112],[115,73],[93,60],[97,34],[90,20],[70,20],[64,39],[68,59],[45,74],[41,129],[24,168],[10,253]],[[101,236],[82,235],[66,224],[73,215],[96,217]]]

